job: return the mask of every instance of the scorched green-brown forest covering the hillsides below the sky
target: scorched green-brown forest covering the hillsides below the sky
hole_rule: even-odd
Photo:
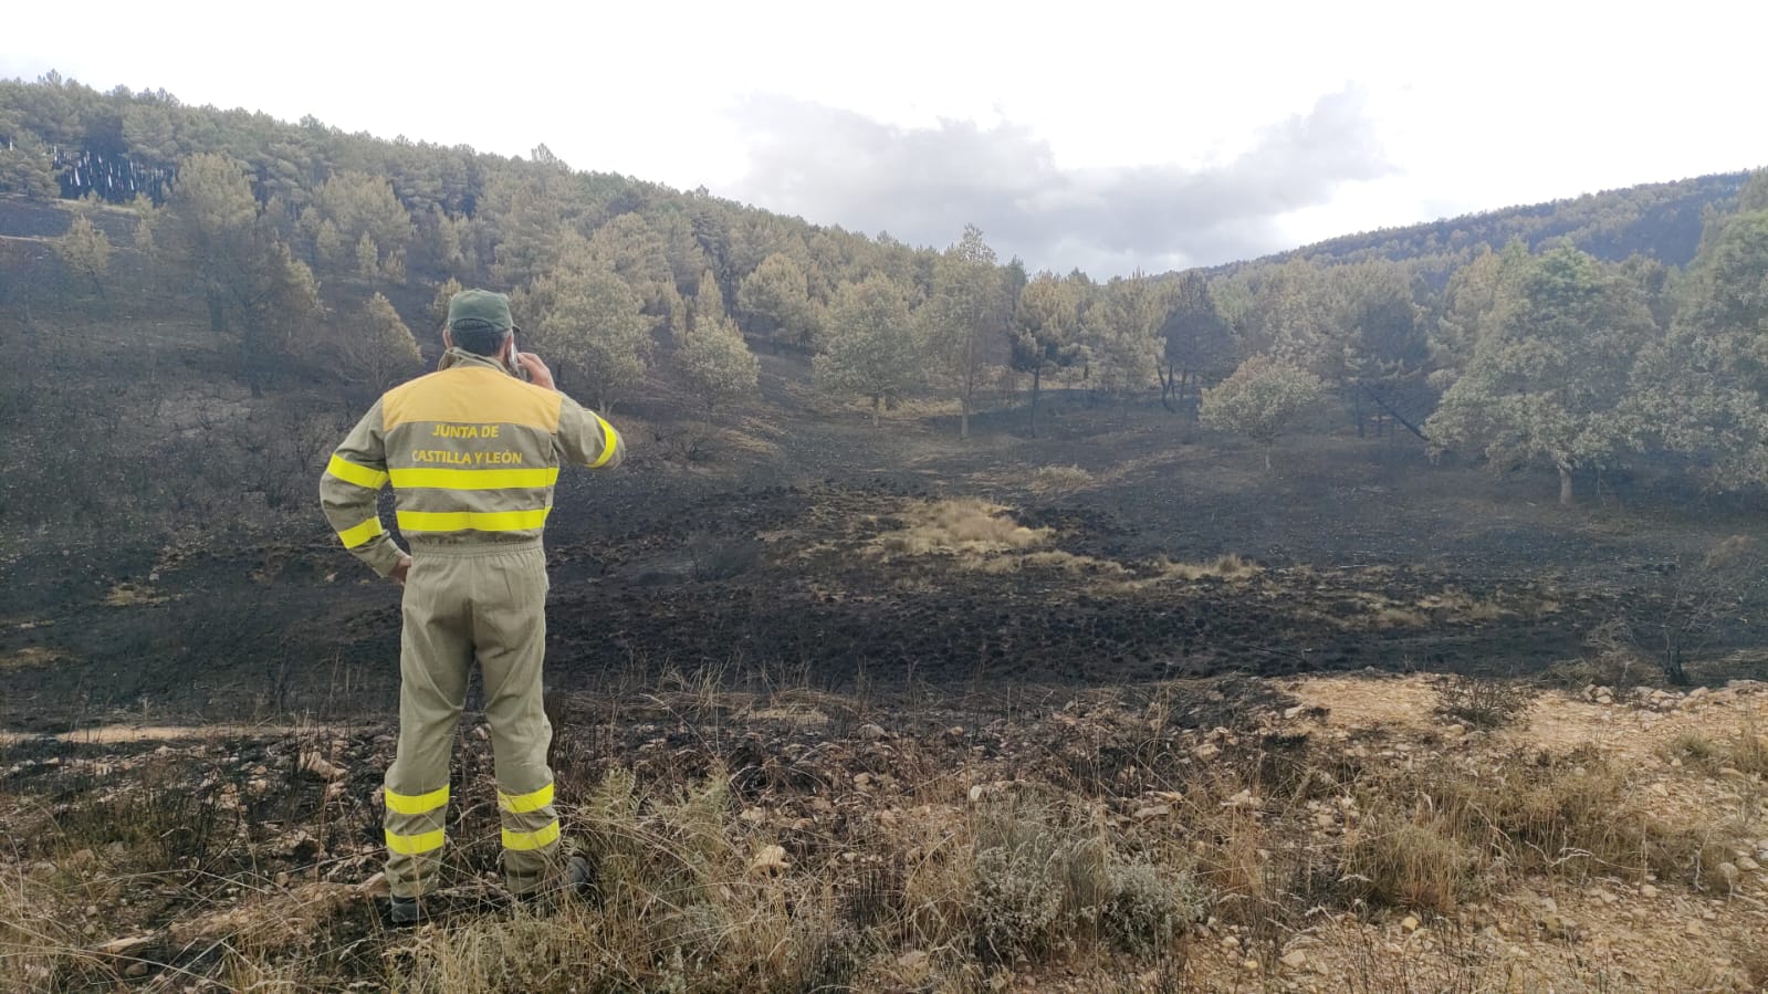
[[[16,235],[0,260],[0,333],[50,356],[78,345],[42,343],[39,313],[149,327],[196,311],[212,336],[205,361],[249,394],[240,403],[286,400],[278,417],[297,423],[244,437],[240,451],[131,435],[74,396],[27,389],[34,371],[12,368],[0,423],[19,444],[0,516],[14,529],[200,497],[143,476],[67,483],[57,499],[57,485],[25,472],[90,460],[65,479],[117,476],[97,470],[126,462],[113,449],[212,463],[226,488],[240,453],[269,449],[288,479],[255,490],[279,504],[304,490],[313,439],[421,368],[437,308],[463,285],[511,292],[525,347],[615,412],[663,393],[681,398],[682,419],[716,423],[753,401],[755,350],[767,350],[810,356],[815,387],[868,407],[873,423],[905,400],[948,405],[960,437],[1001,398],[1020,398],[1036,435],[1054,382],[1116,407],[1121,423],[1158,398],[1266,458],[1337,398],[1358,433],[1374,417],[1434,449],[1551,467],[1566,502],[1581,474],[1642,458],[1718,490],[1768,476],[1759,173],[1354,235],[1220,271],[1093,279],[1002,262],[958,218],[949,248],[907,246],[578,172],[545,145],[523,159],[387,141],[51,74],[0,83],[0,233]],[[129,389],[159,405],[171,387]],[[58,430],[32,428],[44,423]],[[71,455],[69,439],[88,444]],[[170,490],[180,486],[202,490]]]

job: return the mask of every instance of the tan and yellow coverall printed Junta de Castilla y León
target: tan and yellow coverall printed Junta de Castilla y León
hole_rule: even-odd
[[[560,462],[619,465],[624,442],[575,400],[451,348],[428,377],[387,391],[338,446],[320,502],[343,545],[385,577],[401,552],[380,524],[392,483],[412,548],[400,651],[400,745],[385,778],[387,881],[394,897],[438,884],[449,753],[474,658],[492,725],[504,877],[546,883],[559,853],[552,723],[541,706],[546,555],[541,529]]]

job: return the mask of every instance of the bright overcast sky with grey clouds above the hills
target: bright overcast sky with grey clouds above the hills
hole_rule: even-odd
[[[14,4],[0,76],[1160,272],[1768,164],[1768,4]]]

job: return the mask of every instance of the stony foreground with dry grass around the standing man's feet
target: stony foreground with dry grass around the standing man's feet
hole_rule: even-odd
[[[469,722],[449,911],[414,932],[387,927],[378,900],[387,729],[12,736],[0,766],[12,966],[0,985],[1768,983],[1759,683],[1683,693],[1220,677],[985,702],[682,681],[569,700],[560,727],[562,810],[603,867],[603,904],[539,918],[506,907],[488,743]],[[628,904],[686,886],[638,849],[702,867],[705,914],[725,925],[709,937]],[[1077,861],[1094,849],[1103,861]],[[1066,853],[1064,879],[1146,867],[1163,883],[1137,891],[1140,906],[1107,891],[1101,911],[1068,918],[1082,893],[1071,883],[1052,883],[1066,897],[1045,904],[988,883],[990,860],[1017,867],[1033,853]],[[525,929],[559,943],[546,948],[564,973],[523,971]],[[751,934],[776,937],[762,950],[739,937]]]

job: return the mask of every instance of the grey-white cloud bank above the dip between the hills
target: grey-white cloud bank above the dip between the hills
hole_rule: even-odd
[[[728,189],[812,219],[956,241],[974,223],[1033,267],[1124,272],[1285,248],[1276,219],[1345,184],[1391,173],[1356,90],[1262,129],[1213,166],[1063,168],[1031,127],[889,126],[847,110],[757,97],[735,117],[748,172]]]

